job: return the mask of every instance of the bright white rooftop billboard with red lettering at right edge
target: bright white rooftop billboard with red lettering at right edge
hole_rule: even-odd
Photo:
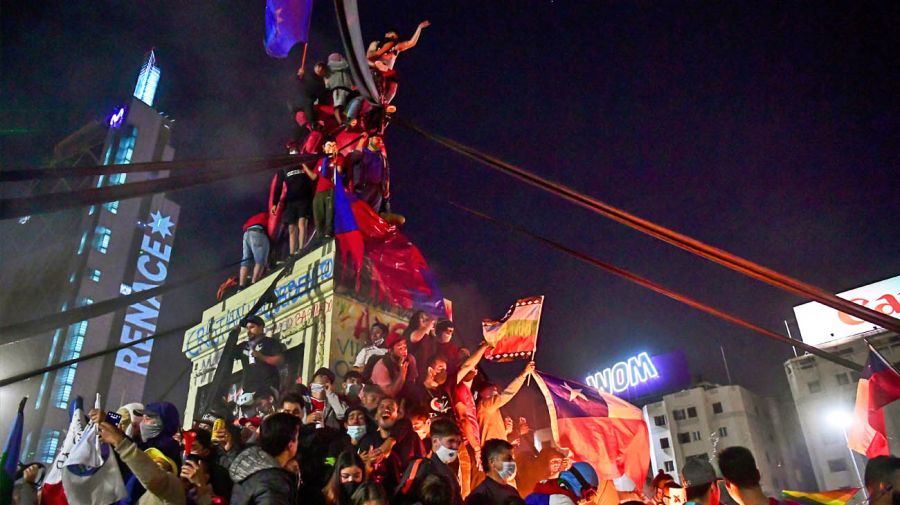
[[[900,318],[900,301],[898,301],[900,276],[844,291],[837,296],[891,317]],[[848,337],[881,329],[880,326],[818,302],[794,307],[794,315],[803,341],[815,346],[835,345]]]

